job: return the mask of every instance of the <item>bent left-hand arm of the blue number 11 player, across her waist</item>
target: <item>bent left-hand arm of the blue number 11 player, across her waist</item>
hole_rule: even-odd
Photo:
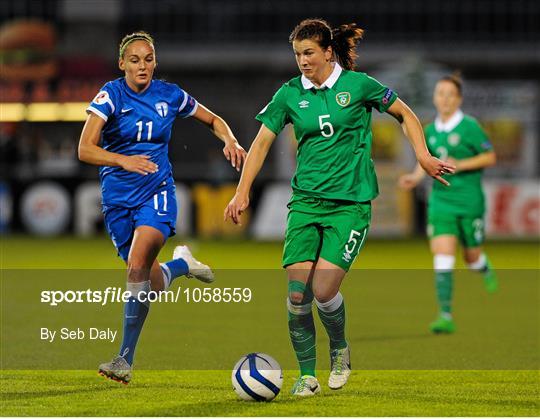
[[[141,175],[157,172],[158,166],[149,160],[150,156],[124,156],[101,148],[98,144],[104,126],[103,118],[91,112],[88,114],[79,140],[80,161],[97,166],[120,166]]]

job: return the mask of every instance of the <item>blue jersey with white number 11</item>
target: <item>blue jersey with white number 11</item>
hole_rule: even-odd
[[[178,85],[152,80],[142,93],[131,90],[124,78],[101,88],[87,112],[104,119],[101,146],[126,156],[147,155],[159,166],[156,173],[140,175],[119,166],[99,169],[103,204],[135,208],[156,193],[161,185],[173,183],[168,145],[177,116],[188,117],[197,101]]]

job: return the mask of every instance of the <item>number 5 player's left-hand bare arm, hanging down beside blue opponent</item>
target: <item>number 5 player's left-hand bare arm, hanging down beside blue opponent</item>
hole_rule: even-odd
[[[261,125],[253,144],[249,148],[249,152],[242,169],[242,176],[236,188],[234,195],[227,208],[225,208],[224,219],[230,218],[233,223],[240,223],[240,216],[249,206],[249,191],[251,185],[261,170],[261,167],[266,159],[270,146],[276,139],[276,134],[269,130],[264,124]]]

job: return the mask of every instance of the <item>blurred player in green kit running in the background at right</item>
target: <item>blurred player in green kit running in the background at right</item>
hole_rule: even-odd
[[[496,157],[478,122],[460,110],[461,102],[461,79],[456,75],[440,79],[433,93],[438,115],[435,122],[425,128],[430,153],[456,166],[456,172],[448,176],[451,188],[435,183],[428,204],[427,230],[440,308],[438,318],[430,325],[434,333],[455,331],[452,271],[458,240],[469,268],[483,274],[488,292],[497,290],[497,277],[481,247],[485,212],[482,171],[494,165]],[[424,175],[424,170],[417,165],[414,172],[403,175],[399,183],[406,189],[414,188]]]

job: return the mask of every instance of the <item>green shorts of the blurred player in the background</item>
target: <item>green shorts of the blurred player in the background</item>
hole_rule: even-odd
[[[428,214],[427,234],[430,239],[442,236],[456,236],[463,247],[478,247],[484,242],[484,218],[445,213]]]

